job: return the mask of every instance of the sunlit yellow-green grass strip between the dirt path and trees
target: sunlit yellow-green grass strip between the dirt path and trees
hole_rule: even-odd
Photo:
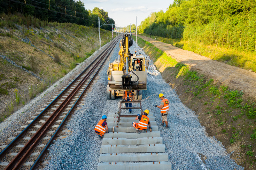
[[[148,34],[140,34],[149,37]],[[172,44],[184,50],[193,51],[196,54],[223,62],[232,66],[256,72],[256,52],[239,51],[232,48],[216,47],[205,45],[194,41],[184,41],[180,39],[163,38],[151,35],[151,38],[164,43]]]

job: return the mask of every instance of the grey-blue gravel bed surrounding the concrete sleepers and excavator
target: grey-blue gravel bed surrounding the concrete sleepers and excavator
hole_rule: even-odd
[[[134,43],[135,44],[135,43]],[[109,61],[118,58],[118,44]],[[134,52],[133,47],[130,48]],[[118,112],[122,97],[106,100],[108,63],[99,73],[98,81],[93,90],[81,103],[82,109],[77,110],[65,128],[72,131],[71,136],[57,139],[49,148],[51,159],[44,168],[50,169],[97,169],[102,141],[94,132],[94,127],[102,115]],[[160,105],[158,94],[163,93],[169,99],[169,129],[159,126]],[[162,76],[148,74],[147,90],[143,91],[142,108],[154,113],[169,161],[174,170],[242,170],[226,153],[224,146],[215,138],[208,137],[205,128],[199,123],[197,115],[180,101],[175,90],[171,89]],[[125,111],[128,112],[128,111]],[[139,111],[137,111],[139,112]],[[137,113],[135,110],[133,114]],[[204,162],[200,156],[205,157]]]

